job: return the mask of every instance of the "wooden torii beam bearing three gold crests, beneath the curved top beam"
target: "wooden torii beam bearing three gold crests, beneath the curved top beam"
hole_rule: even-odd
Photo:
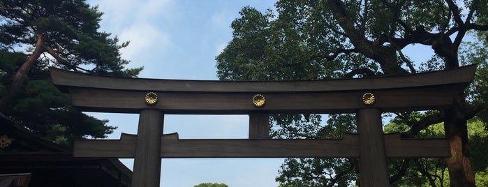
[[[145,91],[70,89],[71,103],[82,111],[138,113],[142,109],[165,114],[353,113],[360,108],[382,112],[443,109],[452,104],[453,85],[360,91],[262,93],[264,107],[254,107],[255,93],[156,92],[158,102],[146,105]],[[362,95],[374,93],[376,103],[364,105]]]

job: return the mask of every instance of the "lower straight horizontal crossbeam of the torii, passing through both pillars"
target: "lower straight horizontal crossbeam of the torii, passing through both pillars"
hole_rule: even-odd
[[[120,140],[75,140],[73,156],[134,158],[136,135],[122,134]],[[359,137],[343,134],[342,139],[190,139],[179,140],[177,133],[161,137],[161,158],[290,158],[359,157]],[[444,139],[402,139],[385,135],[387,157],[448,157]]]

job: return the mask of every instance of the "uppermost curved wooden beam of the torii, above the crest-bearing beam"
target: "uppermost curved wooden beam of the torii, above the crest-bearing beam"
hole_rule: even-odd
[[[89,75],[56,68],[50,68],[50,73],[54,84],[63,87],[123,89],[132,91],[151,89],[150,91],[254,93],[396,89],[440,84],[464,84],[473,80],[476,66],[471,65],[412,75],[307,81],[156,80]]]

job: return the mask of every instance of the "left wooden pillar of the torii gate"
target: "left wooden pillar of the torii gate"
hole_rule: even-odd
[[[159,186],[163,121],[160,110],[140,111],[131,186]]]

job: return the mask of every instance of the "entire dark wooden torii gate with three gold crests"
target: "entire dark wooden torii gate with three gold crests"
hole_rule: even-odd
[[[310,81],[200,81],[106,77],[50,69],[82,111],[140,114],[138,134],[76,140],[75,157],[135,158],[132,186],[159,186],[161,158],[360,158],[361,186],[389,186],[386,157],[450,156],[444,139],[383,134],[382,112],[438,110],[473,80],[476,66],[431,73]],[[269,114],[356,113],[341,139],[269,139]],[[163,135],[164,114],[249,114],[249,139]]]

